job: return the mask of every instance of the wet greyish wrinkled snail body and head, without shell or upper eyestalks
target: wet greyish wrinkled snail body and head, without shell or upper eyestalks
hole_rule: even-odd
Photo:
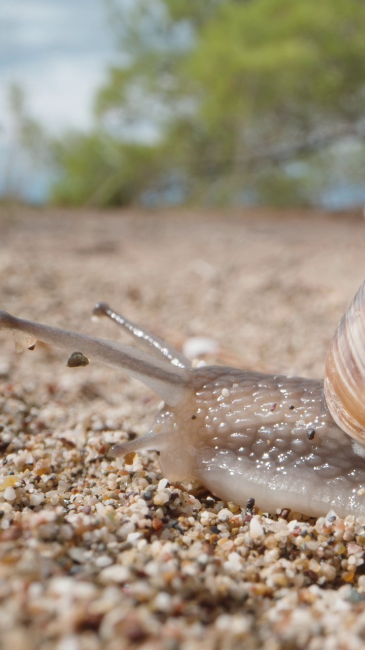
[[[198,480],[241,505],[254,497],[264,512],[365,513],[365,460],[333,421],[323,382],[203,367],[192,383],[196,392],[114,455],[157,449],[169,480]]]

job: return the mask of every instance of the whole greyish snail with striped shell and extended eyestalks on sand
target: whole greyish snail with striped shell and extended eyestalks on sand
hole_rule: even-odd
[[[365,515],[365,281],[329,346],[325,380],[231,367],[192,367],[181,352],[121,317],[107,316],[149,353],[0,312],[18,351],[37,340],[122,368],[164,403],[151,430],[115,445],[111,456],[155,449],[170,481],[197,480],[223,500],[255,499],[263,512]]]

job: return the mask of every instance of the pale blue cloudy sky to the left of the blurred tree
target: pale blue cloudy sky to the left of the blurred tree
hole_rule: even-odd
[[[27,111],[49,133],[86,131],[95,90],[117,57],[103,0],[1,0],[0,193],[16,174],[25,198],[40,201],[51,180],[14,146],[9,86],[23,88]]]

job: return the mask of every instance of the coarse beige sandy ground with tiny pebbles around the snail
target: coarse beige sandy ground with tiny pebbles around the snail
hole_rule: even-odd
[[[0,308],[120,340],[90,320],[104,300],[177,347],[212,337],[209,362],[321,377],[364,250],[356,213],[3,209]],[[290,567],[284,519],[257,515],[250,537],[250,515],[170,486],[155,452],[107,459],[148,430],[147,388],[96,363],[68,369],[42,344],[16,355],[11,339],[0,333],[1,649],[363,647],[362,522],[338,524],[327,569],[329,528],[303,519],[314,546]]]

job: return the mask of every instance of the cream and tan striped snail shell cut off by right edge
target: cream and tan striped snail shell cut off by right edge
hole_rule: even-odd
[[[324,391],[336,424],[365,445],[365,281],[329,346]]]

